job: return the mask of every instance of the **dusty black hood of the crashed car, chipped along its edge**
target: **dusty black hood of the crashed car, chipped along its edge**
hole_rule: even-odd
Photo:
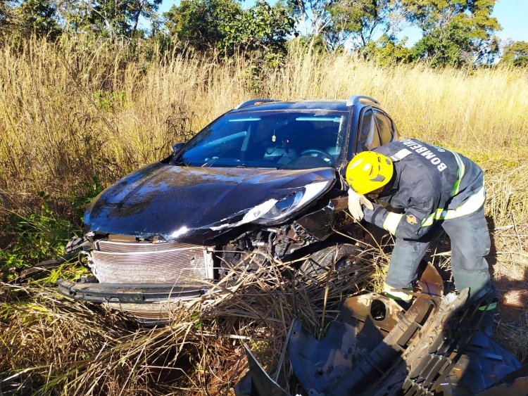
[[[103,191],[87,208],[84,222],[89,231],[143,238],[159,234],[168,241],[186,241],[196,234],[193,230],[220,234],[232,229],[239,224],[237,217],[251,208],[306,184],[332,181],[335,174],[332,168],[270,170],[158,162]]]

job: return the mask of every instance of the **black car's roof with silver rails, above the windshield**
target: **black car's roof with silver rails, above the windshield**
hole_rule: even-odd
[[[273,99],[252,99],[240,103],[230,113],[243,113],[245,111],[262,110],[334,110],[349,111],[356,103],[363,105],[379,106],[376,99],[367,96],[351,96],[348,100],[301,100],[301,101],[276,101]]]

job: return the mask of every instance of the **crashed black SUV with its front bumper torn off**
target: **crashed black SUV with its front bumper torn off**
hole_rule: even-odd
[[[241,103],[93,200],[86,234],[68,245],[93,276],[59,279],[59,291],[147,318],[156,303],[207,293],[247,253],[289,260],[325,248],[357,228],[346,164],[394,139],[367,96]]]

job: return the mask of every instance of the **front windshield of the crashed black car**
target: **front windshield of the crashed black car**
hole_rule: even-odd
[[[226,114],[203,129],[173,165],[202,167],[334,167],[347,113],[268,110]]]

